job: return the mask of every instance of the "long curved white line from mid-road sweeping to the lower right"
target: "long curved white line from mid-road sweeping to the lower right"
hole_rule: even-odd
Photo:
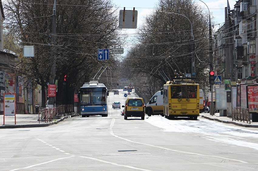
[[[146,145],[146,146],[157,147],[157,148],[161,148],[161,149],[164,149],[164,150],[170,150],[170,151],[175,151],[175,152],[179,152],[179,153],[194,154],[194,155],[198,155],[198,156],[215,157],[215,158],[220,158],[220,159],[234,160],[234,161],[238,161],[238,162],[240,162],[240,163],[248,163],[248,162],[245,162],[245,161],[242,161],[242,160],[229,159],[229,158],[226,158],[226,157],[211,156],[211,155],[205,155],[205,154],[199,154],[199,153],[191,153],[191,152],[185,152],[185,151],[179,151],[179,150],[172,150],[172,149],[165,148],[165,147],[161,147],[161,146],[154,146],[154,145],[151,145],[151,144],[146,144],[146,143],[140,143],[140,142],[136,142],[136,141],[131,141],[131,140],[129,140],[129,139],[122,138],[122,137],[117,136],[117,135],[114,134],[114,132],[113,132],[114,123],[115,123],[115,118],[112,119],[112,122],[111,122],[111,124],[110,124],[110,134],[113,135],[113,136],[115,136],[115,137],[117,137],[117,138],[120,138],[120,139],[122,139],[122,140],[126,140],[126,141],[131,142],[131,143],[143,144],[143,145]],[[111,126],[112,126],[112,127],[111,127]]]

